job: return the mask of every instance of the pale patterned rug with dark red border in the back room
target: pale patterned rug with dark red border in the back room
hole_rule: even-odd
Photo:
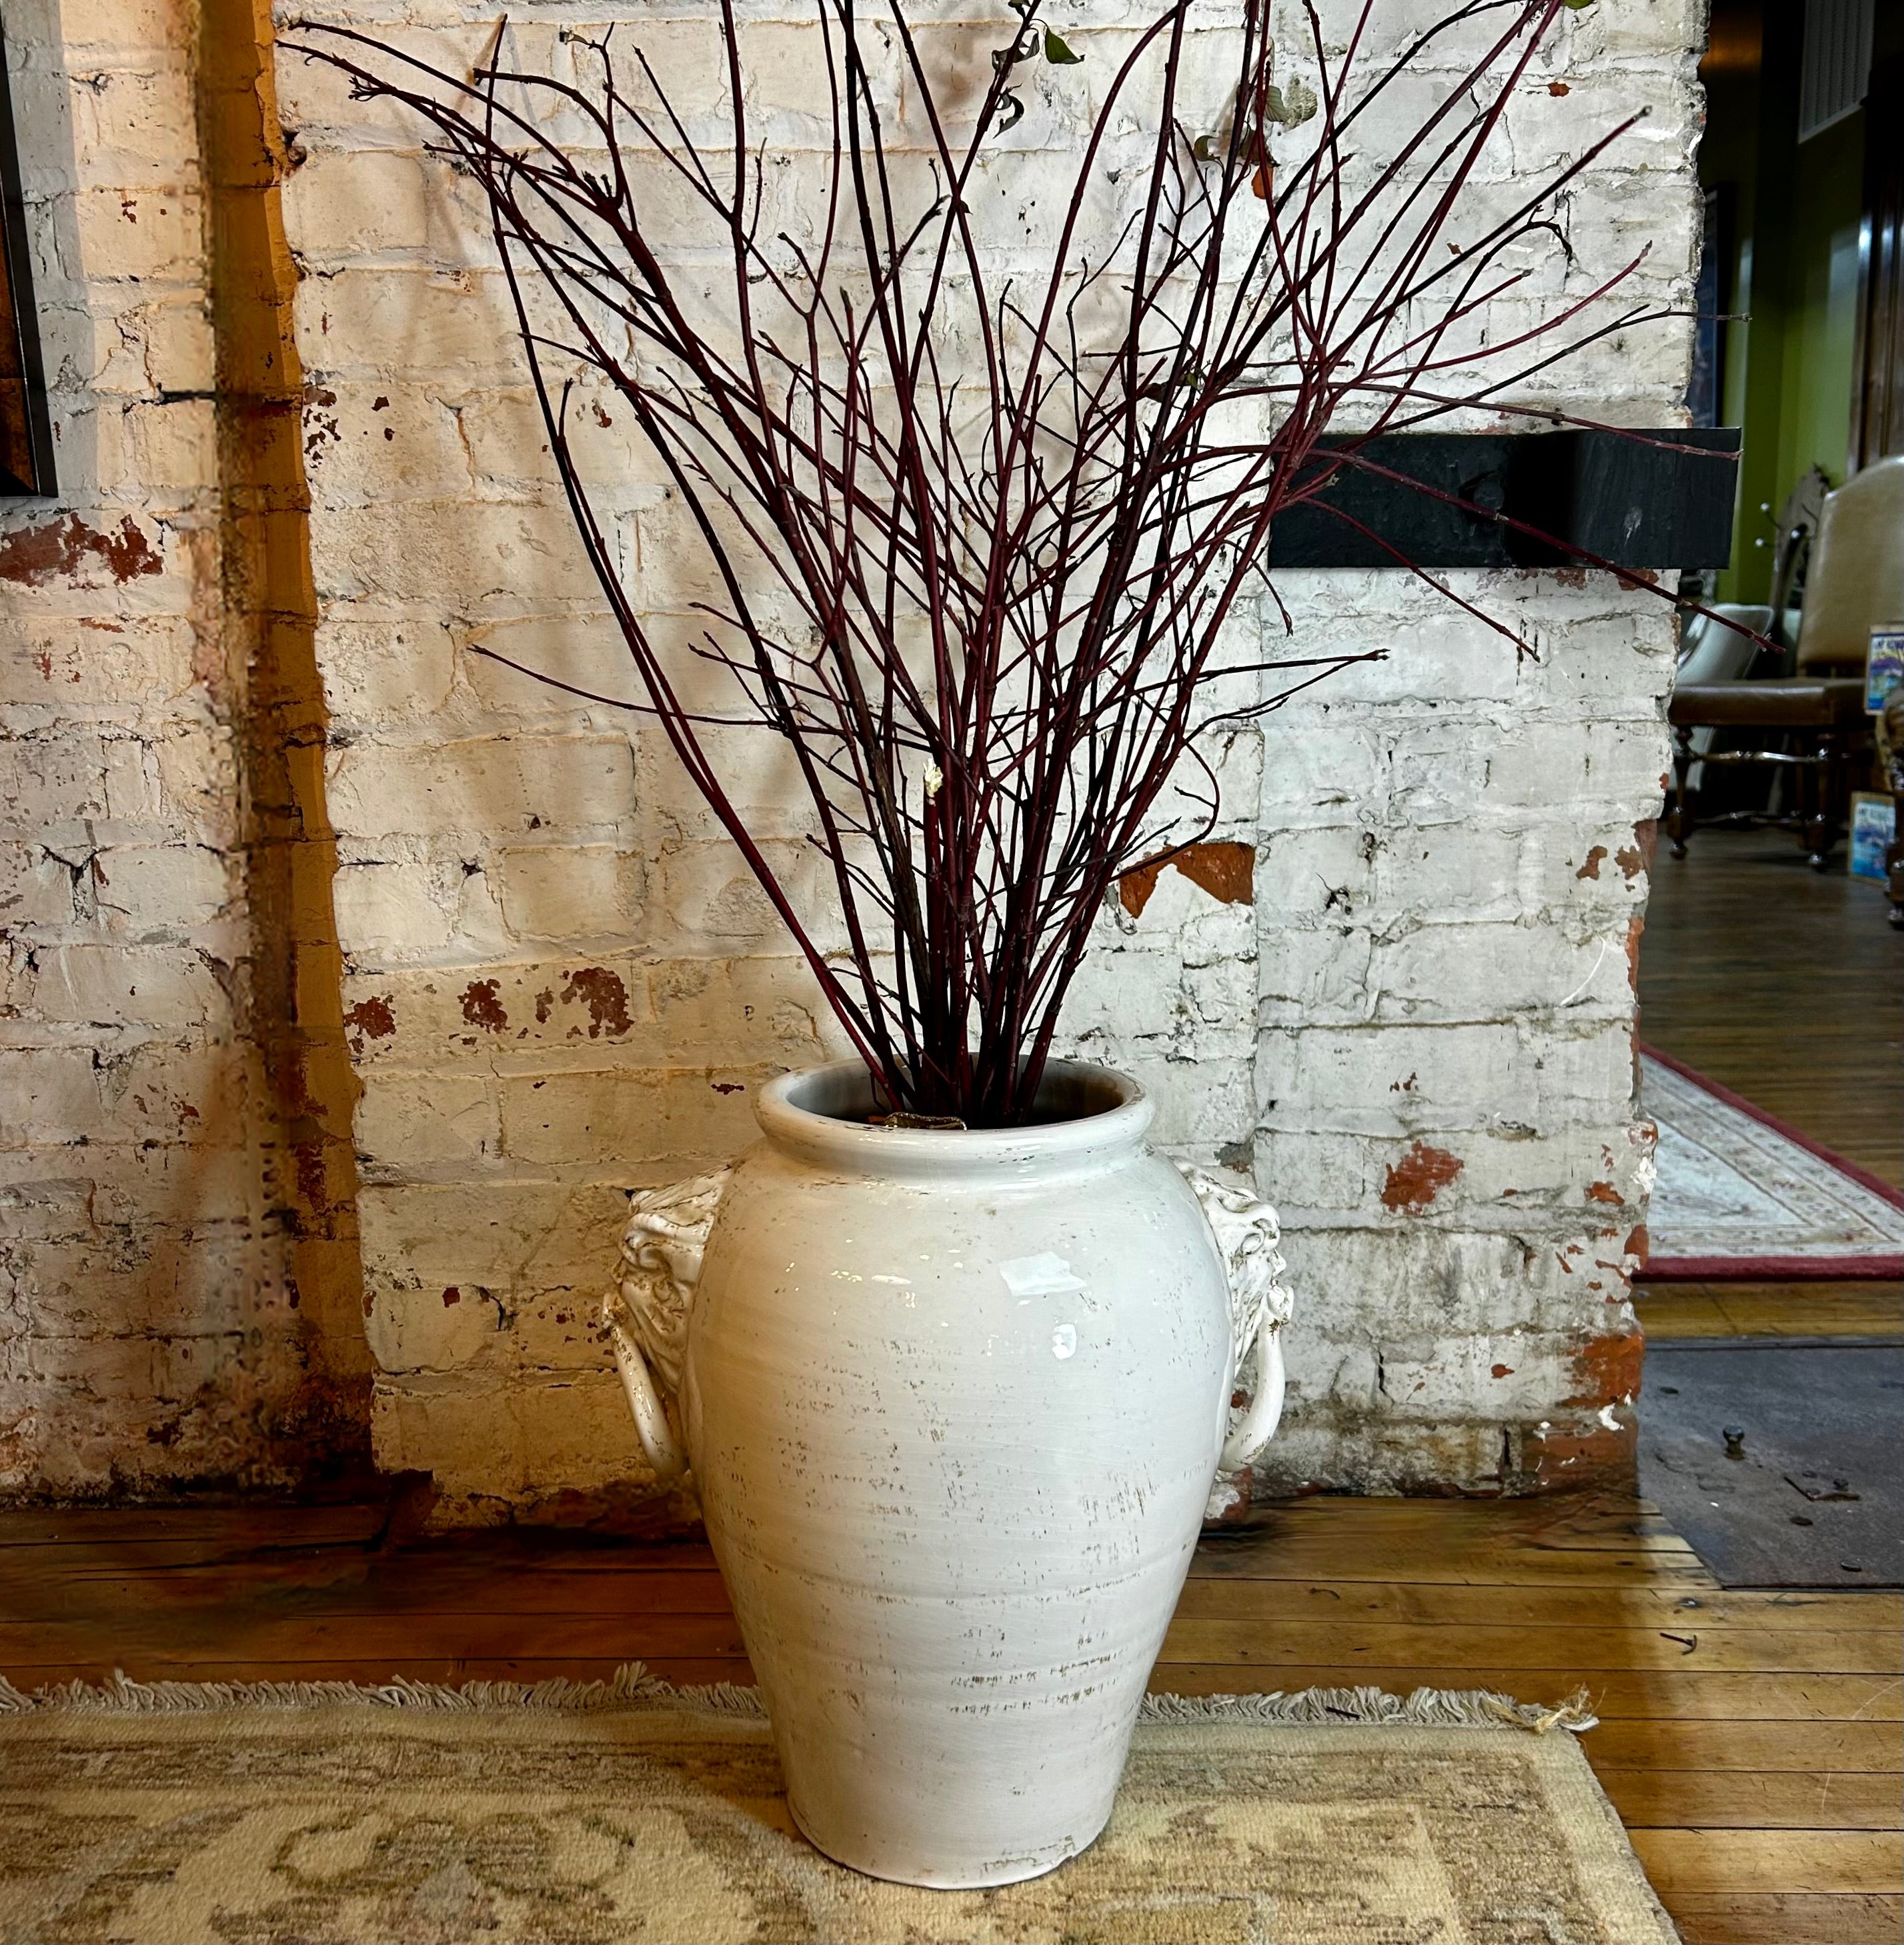
[[[1649,1282],[1904,1276],[1904,1194],[1653,1048]]]

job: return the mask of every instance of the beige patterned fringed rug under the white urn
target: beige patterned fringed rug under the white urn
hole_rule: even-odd
[[[0,1937],[1671,1941],[1581,1723],[1155,1698],[1089,1852],[932,1892],[793,1834],[753,1690],[0,1680]]]

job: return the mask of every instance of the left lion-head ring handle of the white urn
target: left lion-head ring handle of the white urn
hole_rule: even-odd
[[[729,1173],[720,1169],[630,1194],[622,1260],[601,1299],[634,1432],[661,1480],[677,1480],[688,1468],[667,1400],[681,1395],[700,1258]]]

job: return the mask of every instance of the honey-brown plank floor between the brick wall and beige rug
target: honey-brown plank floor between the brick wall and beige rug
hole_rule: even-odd
[[[698,1544],[379,1546],[375,1507],[0,1513],[0,1669],[749,1680]],[[1301,1500],[1206,1540],[1157,1667],[1186,1694],[1585,1686],[1585,1749],[1688,1939],[1894,1941],[1904,1599],[1725,1593],[1630,1500]]]

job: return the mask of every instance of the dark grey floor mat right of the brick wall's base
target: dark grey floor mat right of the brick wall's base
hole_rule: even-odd
[[[1640,1490],[1727,1587],[1904,1585],[1904,1344],[1649,1344]]]

